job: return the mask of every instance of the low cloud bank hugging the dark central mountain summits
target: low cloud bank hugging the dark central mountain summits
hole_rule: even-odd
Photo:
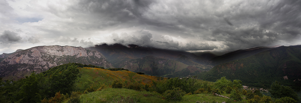
[[[160,36],[160,39],[154,40],[153,34],[149,31],[140,30],[135,31],[131,35],[127,33],[112,34],[114,40],[113,43],[120,43],[123,45],[136,44],[139,46],[155,47],[160,49],[173,49],[173,50],[185,50],[185,51],[195,51],[195,50],[213,50],[217,49],[217,46],[209,45],[208,43],[181,43],[174,40],[170,40],[164,36]],[[158,41],[160,40],[160,41]],[[102,44],[102,43],[100,43]],[[110,44],[110,43],[109,43]]]

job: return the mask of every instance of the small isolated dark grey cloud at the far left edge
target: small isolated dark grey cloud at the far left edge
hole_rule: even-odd
[[[4,31],[0,35],[0,41],[2,43],[20,42],[22,37],[13,31]]]

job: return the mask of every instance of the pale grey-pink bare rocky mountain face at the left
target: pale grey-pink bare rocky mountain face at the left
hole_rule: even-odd
[[[0,62],[0,77],[24,77],[69,62],[113,68],[100,52],[73,46],[37,46],[11,54]]]

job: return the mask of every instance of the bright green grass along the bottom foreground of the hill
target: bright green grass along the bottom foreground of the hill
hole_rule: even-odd
[[[230,94],[221,95],[229,96]],[[229,99],[213,94],[196,94],[185,95],[181,101],[167,101],[164,96],[159,93],[115,88],[107,88],[80,96],[81,103],[196,103],[197,101],[201,103],[228,103]],[[240,102],[247,102],[247,100],[244,99]],[[65,101],[65,103],[67,103],[67,101]]]

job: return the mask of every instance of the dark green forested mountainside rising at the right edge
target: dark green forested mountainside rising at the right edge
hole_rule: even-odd
[[[301,81],[301,46],[281,46],[253,56],[222,63],[200,77],[215,81],[225,76],[231,80],[239,79],[244,85],[269,87],[272,82],[299,88]],[[287,76],[288,79],[285,80]]]

